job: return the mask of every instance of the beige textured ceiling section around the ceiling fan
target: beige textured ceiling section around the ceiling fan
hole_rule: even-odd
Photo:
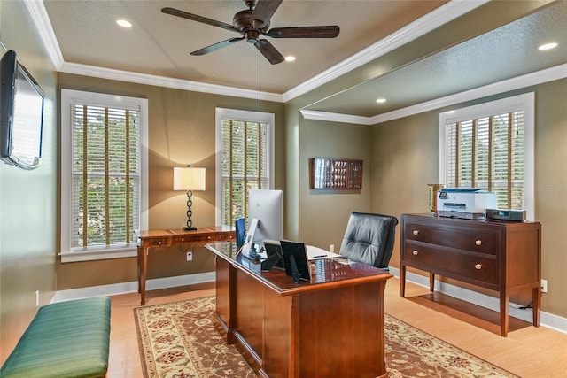
[[[338,25],[334,39],[269,39],[283,56],[297,60],[270,65],[251,44],[238,42],[205,56],[190,56],[215,42],[240,36],[160,12],[173,7],[232,24],[241,0],[115,1],[44,0],[67,63],[284,93],[334,66],[446,1],[284,0],[271,27]],[[130,29],[115,24],[133,23]]]

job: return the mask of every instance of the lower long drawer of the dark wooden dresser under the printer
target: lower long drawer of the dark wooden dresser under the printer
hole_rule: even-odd
[[[465,282],[499,283],[496,257],[483,253],[406,240],[402,261],[404,265]]]

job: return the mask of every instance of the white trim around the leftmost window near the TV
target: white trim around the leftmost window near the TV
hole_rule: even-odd
[[[105,93],[61,89],[61,262],[88,261],[105,258],[126,258],[137,256],[136,240],[123,246],[103,248],[71,248],[71,104],[117,104],[140,110],[140,228],[148,228],[148,100],[146,98],[117,96]]]

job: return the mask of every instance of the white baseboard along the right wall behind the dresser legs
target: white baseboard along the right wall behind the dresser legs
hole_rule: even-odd
[[[391,274],[400,278],[399,268],[390,266],[389,270]],[[424,288],[429,288],[429,277],[427,276],[407,272],[406,281],[415,283],[418,286],[423,286]],[[500,312],[500,300],[497,297],[487,296],[470,289],[464,289],[459,286],[446,282],[439,282],[437,280],[435,281],[435,290],[446,294],[447,296],[459,298],[465,302],[470,302],[471,304]],[[510,303],[509,305],[509,316],[528,321],[530,323],[532,322],[532,309],[521,310],[519,308],[521,305],[514,303]],[[540,326],[555,329],[563,334],[567,334],[567,319],[554,315],[553,313],[540,311]]]

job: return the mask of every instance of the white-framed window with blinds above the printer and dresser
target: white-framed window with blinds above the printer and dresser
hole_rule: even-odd
[[[442,113],[440,181],[496,193],[500,209],[533,220],[533,93]]]

